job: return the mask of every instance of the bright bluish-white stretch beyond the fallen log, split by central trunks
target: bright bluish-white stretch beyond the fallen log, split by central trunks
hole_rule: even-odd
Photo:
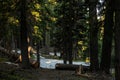
[[[56,63],[63,63],[63,60],[57,60],[57,59],[46,59],[46,58],[41,58],[40,59],[40,67],[42,68],[49,68],[49,69],[55,69],[55,64]],[[85,62],[73,62],[73,64],[77,65],[84,65],[84,66],[90,66],[90,64],[85,63]]]

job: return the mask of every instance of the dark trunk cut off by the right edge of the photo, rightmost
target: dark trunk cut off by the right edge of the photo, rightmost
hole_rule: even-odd
[[[120,80],[120,10],[115,11],[115,80]]]

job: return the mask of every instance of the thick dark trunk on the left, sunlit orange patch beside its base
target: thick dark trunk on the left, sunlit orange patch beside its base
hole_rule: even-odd
[[[22,67],[23,68],[30,68],[30,62],[28,58],[28,41],[27,41],[27,20],[26,20],[26,0],[21,0],[21,15],[20,15],[20,31],[21,31],[21,55],[22,55]]]

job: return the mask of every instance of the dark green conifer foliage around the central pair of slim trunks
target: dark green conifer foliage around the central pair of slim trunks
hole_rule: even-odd
[[[53,45],[58,49],[62,50],[64,46],[63,43],[63,33],[68,31],[68,28],[72,28],[72,40],[73,44],[77,44],[82,41],[82,44],[77,44],[73,48],[78,48],[80,54],[88,53],[88,10],[84,1],[58,1],[54,9],[57,17],[56,27],[54,30]],[[64,29],[66,28],[65,32]],[[86,48],[83,50],[83,48]]]

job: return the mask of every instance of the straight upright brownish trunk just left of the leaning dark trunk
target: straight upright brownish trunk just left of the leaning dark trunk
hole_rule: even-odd
[[[90,2],[89,16],[90,16],[90,69],[97,71],[99,69],[98,62],[98,27],[96,14],[97,1]]]

